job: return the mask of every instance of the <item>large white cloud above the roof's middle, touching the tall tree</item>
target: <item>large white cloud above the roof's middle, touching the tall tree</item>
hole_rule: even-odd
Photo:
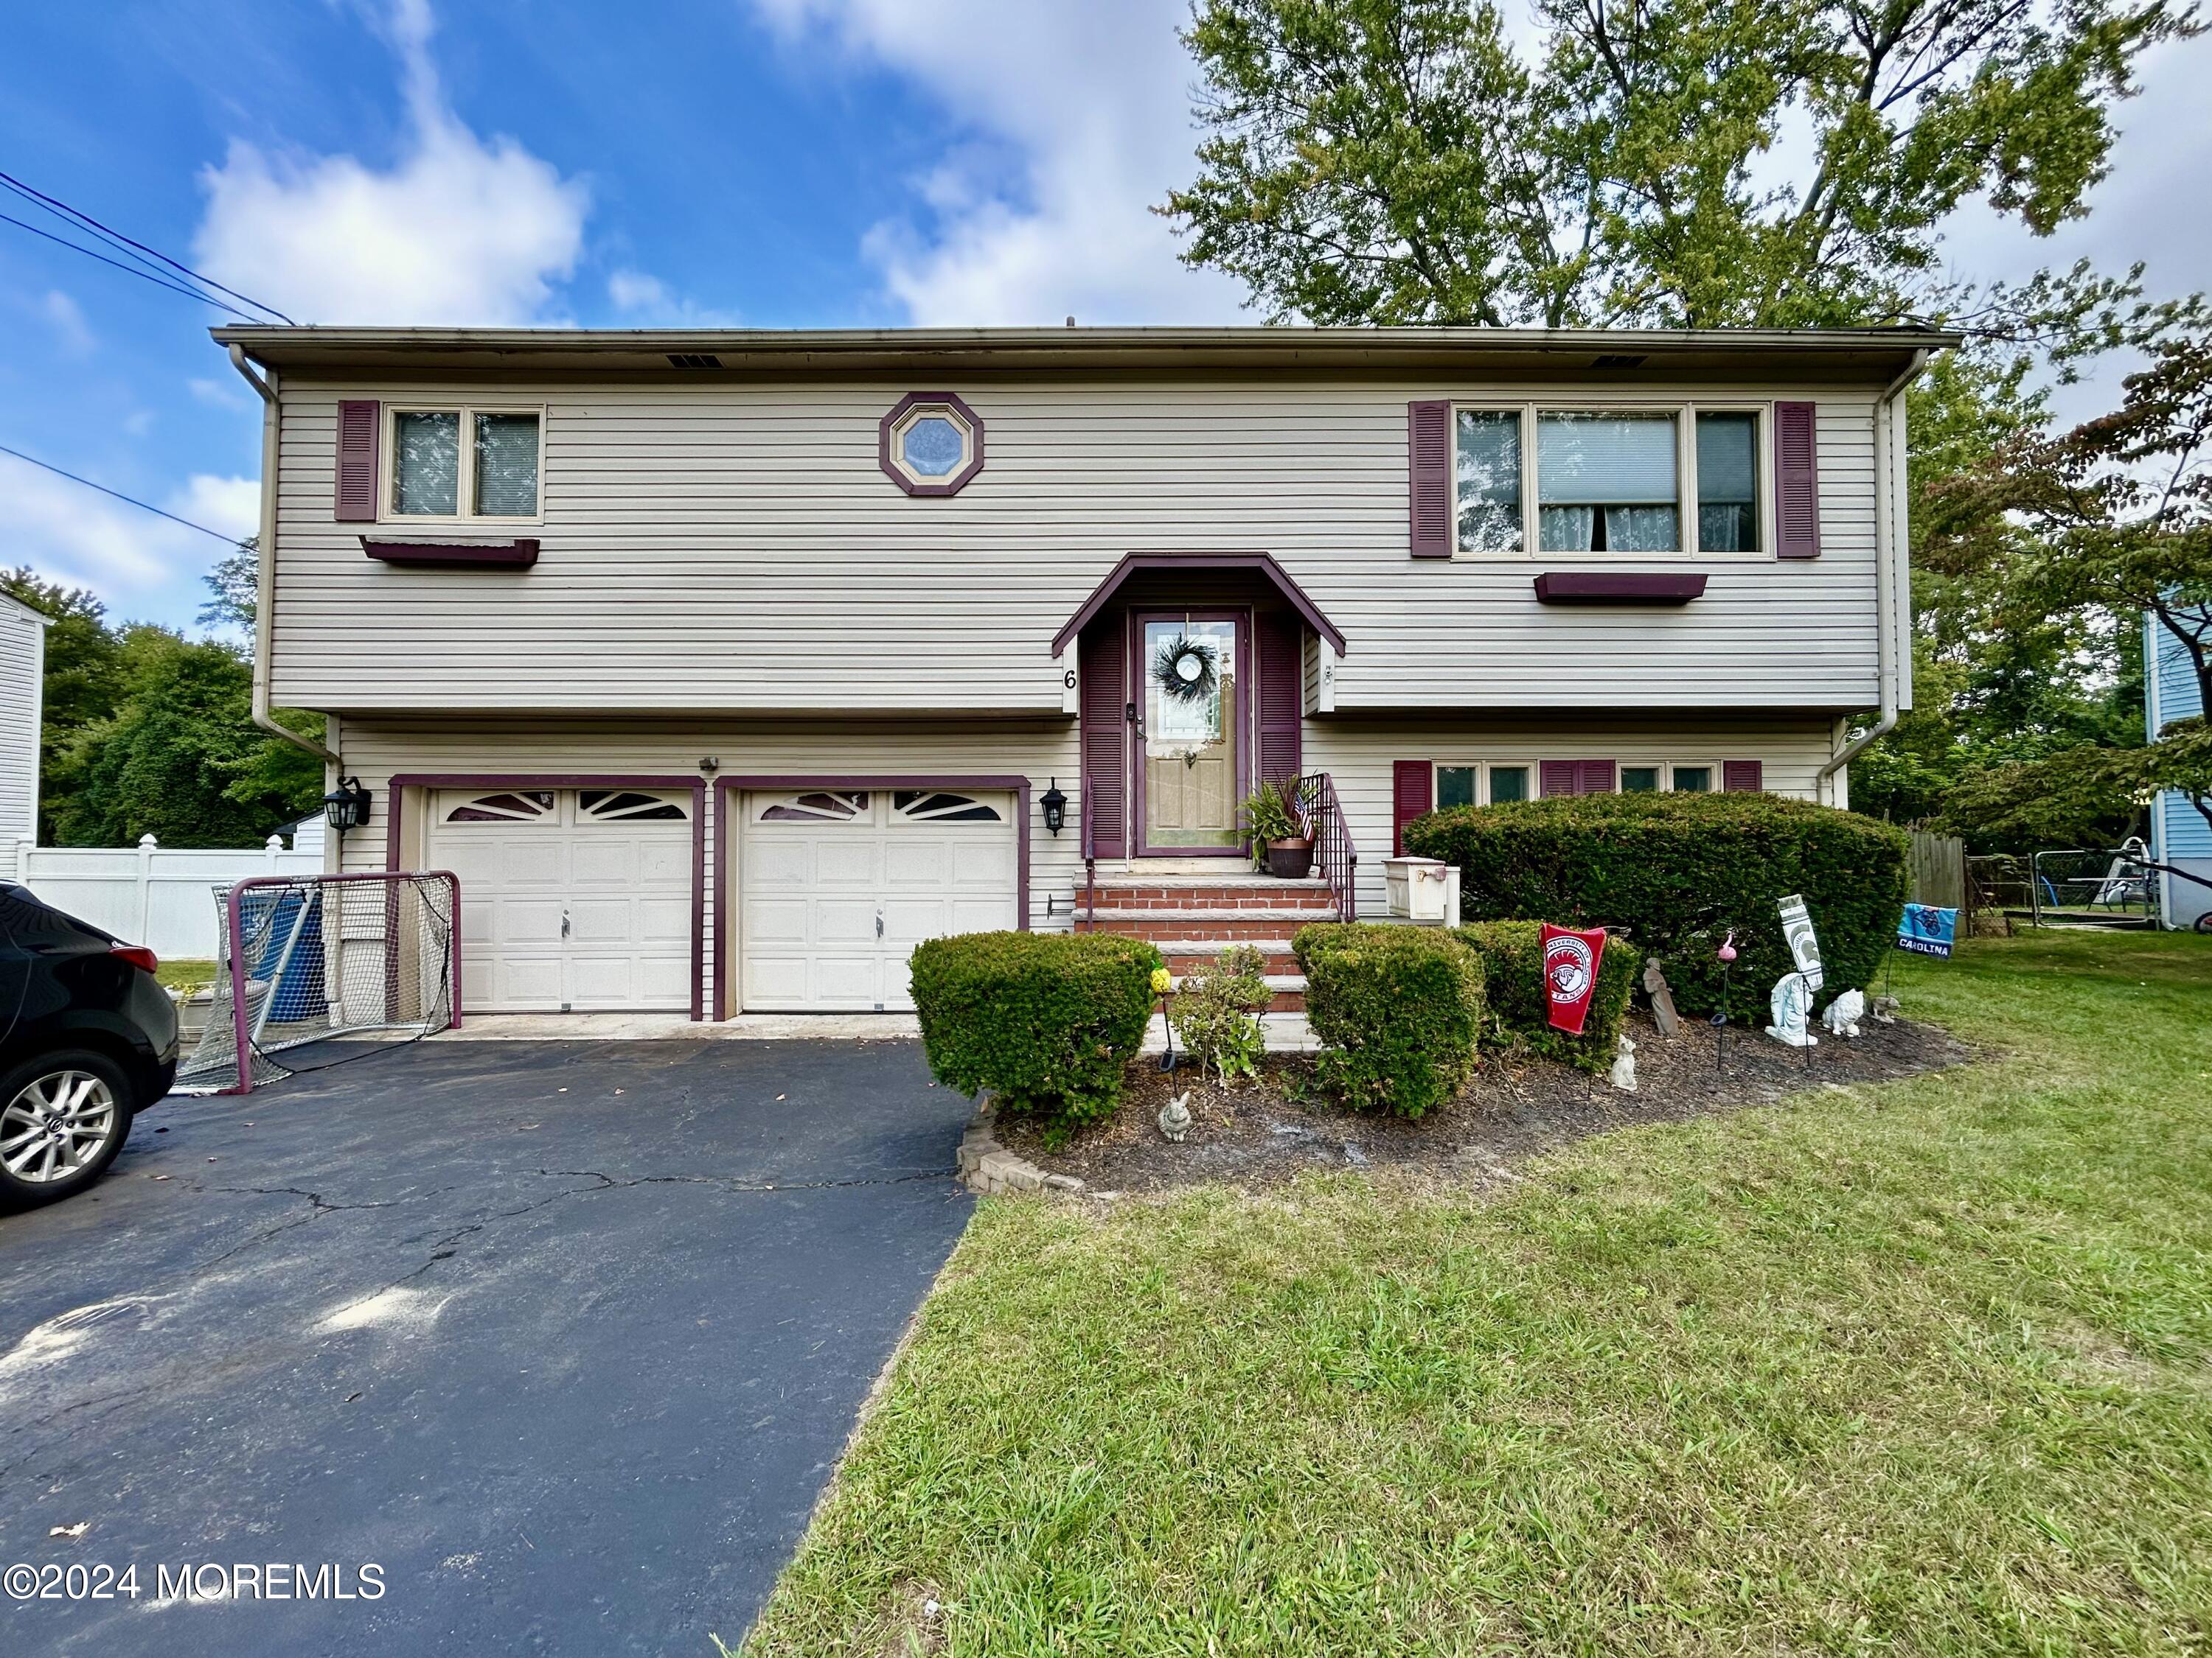
[[[914,323],[1241,316],[1243,287],[1181,265],[1150,212],[1194,166],[1183,0],[752,4],[796,46],[827,38],[911,77],[989,139],[940,157],[914,181],[918,212],[863,243]]]

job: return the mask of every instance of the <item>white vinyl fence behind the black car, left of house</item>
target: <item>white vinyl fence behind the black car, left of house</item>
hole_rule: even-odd
[[[294,842],[307,836],[294,836]],[[283,836],[254,849],[166,851],[153,836],[133,847],[15,847],[15,880],[55,909],[146,944],[164,959],[215,959],[215,889],[248,875],[321,875],[323,849],[285,851]]]

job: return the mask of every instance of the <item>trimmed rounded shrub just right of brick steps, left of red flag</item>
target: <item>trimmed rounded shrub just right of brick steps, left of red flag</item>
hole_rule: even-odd
[[[1327,1043],[1323,1088],[1347,1105],[1420,1116],[1475,1070],[1482,959],[1427,926],[1323,922],[1292,940],[1305,973],[1305,1019]]]

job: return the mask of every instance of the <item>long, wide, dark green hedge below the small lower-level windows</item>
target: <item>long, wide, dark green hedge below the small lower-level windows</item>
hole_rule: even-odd
[[[1453,807],[1407,851],[1460,867],[1467,920],[1626,926],[1683,1012],[1721,1006],[1714,951],[1736,933],[1736,1012],[1790,970],[1776,904],[1803,893],[1829,993],[1871,984],[1896,944],[1907,840],[1856,811],[1774,794],[1584,794]]]

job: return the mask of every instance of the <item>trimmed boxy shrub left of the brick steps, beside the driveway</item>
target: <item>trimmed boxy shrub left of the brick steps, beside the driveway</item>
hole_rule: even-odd
[[[938,1081],[1060,1130],[1113,1114],[1152,1015],[1159,951],[1110,933],[962,933],[914,946]]]

